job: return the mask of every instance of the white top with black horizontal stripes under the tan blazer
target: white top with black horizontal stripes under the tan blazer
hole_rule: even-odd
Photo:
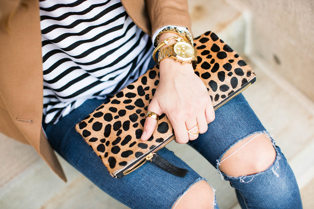
[[[40,0],[43,120],[105,99],[147,70],[153,45],[118,0]]]

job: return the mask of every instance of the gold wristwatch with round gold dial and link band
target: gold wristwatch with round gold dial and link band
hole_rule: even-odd
[[[177,62],[192,63],[193,69],[196,68],[197,51],[195,47],[187,41],[178,41],[160,50],[158,55],[158,65],[165,58],[175,59]]]

